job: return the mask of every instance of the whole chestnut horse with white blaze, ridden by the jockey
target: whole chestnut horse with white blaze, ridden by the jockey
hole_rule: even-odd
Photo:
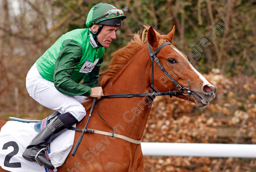
[[[104,95],[124,93],[151,92],[151,59],[148,43],[156,50],[165,42],[172,43],[175,27],[168,35],[157,33],[152,27],[140,34],[134,34],[133,40],[125,47],[112,54],[110,68],[101,74],[101,87]],[[215,97],[216,86],[204,78],[188,61],[185,54],[172,44],[164,46],[156,57],[162,66],[172,75],[182,87],[188,87],[190,80],[190,101],[197,107],[204,107]],[[190,59],[191,60],[191,59]],[[178,66],[178,67],[177,67]],[[154,87],[159,92],[179,91],[154,62]],[[187,94],[186,90],[183,90]],[[188,100],[187,95],[175,95]],[[102,98],[98,104],[101,116],[113,127],[115,133],[141,140],[147,124],[153,99],[150,96],[133,98]],[[84,103],[87,109],[92,99]],[[76,127],[83,129],[88,115],[77,123]],[[5,122],[3,122],[5,123]],[[0,126],[3,125],[0,122]],[[87,128],[110,132],[111,127],[103,121],[97,112],[97,103],[91,115]],[[75,143],[81,132],[76,132]],[[75,144],[74,144],[75,145]],[[73,146],[74,148],[74,146]],[[73,150],[72,148],[72,150]],[[65,163],[57,168],[59,172],[140,172],[144,171],[143,155],[140,144],[134,144],[123,139],[94,133],[85,133],[76,155],[71,154]],[[4,170],[0,170],[4,171]]]

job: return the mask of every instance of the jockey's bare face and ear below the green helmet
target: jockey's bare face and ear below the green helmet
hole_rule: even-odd
[[[93,25],[92,29],[97,31],[98,30],[98,25]],[[116,39],[116,31],[118,30],[118,27],[116,26],[107,26],[103,25],[101,32],[97,36],[97,41],[107,48],[109,44],[111,43],[112,40]]]

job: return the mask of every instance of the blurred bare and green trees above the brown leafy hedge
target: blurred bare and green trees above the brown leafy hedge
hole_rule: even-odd
[[[34,100],[25,88],[25,77],[32,64],[62,34],[86,28],[87,13],[98,0],[0,0],[0,112],[37,112]],[[176,26],[173,44],[183,53],[190,51],[225,18],[228,30],[216,35],[215,43],[202,47],[201,58],[192,64],[201,73],[218,69],[226,77],[255,76],[256,2],[243,0],[109,0],[123,9],[127,19],[117,39],[106,48],[108,68],[110,54],[127,45],[143,24],[168,34]],[[15,92],[16,90],[16,92]],[[17,93],[17,94],[15,94]],[[15,100],[16,97],[16,100]],[[14,105],[19,104],[16,108]],[[40,106],[39,106],[40,107]],[[37,107],[38,108],[38,107]]]

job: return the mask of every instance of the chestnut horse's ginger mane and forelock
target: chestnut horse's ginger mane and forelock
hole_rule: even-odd
[[[148,42],[147,40],[147,31],[149,29],[149,25],[143,25],[144,29],[138,31],[137,33],[133,34],[133,39],[128,43],[127,46],[115,51],[111,54],[111,62],[109,64],[109,68],[107,71],[101,73],[99,78],[100,86],[104,88],[111,79],[127,64],[127,62],[135,56],[135,54]],[[160,33],[156,32],[156,36],[159,39],[166,39],[166,35],[161,35]],[[163,41],[160,41],[162,44]],[[87,111],[91,108],[93,98],[88,97],[87,101],[84,102],[82,105],[85,107]]]

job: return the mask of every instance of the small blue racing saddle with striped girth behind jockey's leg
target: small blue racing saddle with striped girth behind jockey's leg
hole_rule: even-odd
[[[45,126],[47,126],[52,121],[52,119],[54,119],[55,116],[58,116],[58,115],[60,115],[60,113],[58,111],[56,111],[43,120],[29,120],[29,119],[15,118],[15,117],[9,117],[9,119],[11,119],[13,121],[26,122],[26,123],[36,122],[34,129],[36,132],[40,132],[41,129],[43,129]]]

